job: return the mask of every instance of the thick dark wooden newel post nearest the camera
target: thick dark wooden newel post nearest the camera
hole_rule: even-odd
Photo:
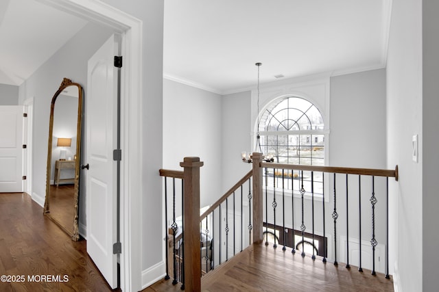
[[[185,157],[180,166],[184,168],[185,194],[183,197],[185,228],[185,290],[201,291],[200,251],[200,168],[204,163],[199,157]]]

